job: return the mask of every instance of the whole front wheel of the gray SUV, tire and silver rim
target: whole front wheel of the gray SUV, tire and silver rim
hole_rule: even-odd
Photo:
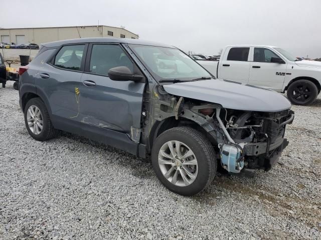
[[[158,179],[171,191],[193,195],[214,179],[217,168],[210,141],[191,127],[174,127],[160,134],[151,161]]]

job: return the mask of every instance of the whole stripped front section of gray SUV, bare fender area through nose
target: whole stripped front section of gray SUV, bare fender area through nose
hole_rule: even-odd
[[[245,168],[269,170],[288,144],[284,133],[286,124],[294,119],[294,112],[290,109],[244,111],[162,91],[155,94],[153,113],[144,111],[143,115],[153,116],[150,121],[166,121],[174,116],[178,125],[197,123],[211,138],[213,147],[220,153],[222,167],[229,172],[239,173]]]

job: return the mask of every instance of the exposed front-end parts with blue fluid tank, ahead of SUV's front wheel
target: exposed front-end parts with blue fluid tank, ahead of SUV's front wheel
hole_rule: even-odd
[[[268,170],[288,144],[284,138],[285,126],[292,123],[293,113],[291,110],[251,112],[222,109],[220,117],[224,115],[224,127],[232,138],[220,146],[223,167],[236,173],[243,167]],[[234,151],[230,150],[227,154],[226,149],[231,147]]]

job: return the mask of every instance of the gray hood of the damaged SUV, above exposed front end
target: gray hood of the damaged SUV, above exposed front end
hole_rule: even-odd
[[[291,107],[289,100],[276,91],[223,79],[179,82],[164,85],[164,88],[170,94],[231,109],[275,112]]]

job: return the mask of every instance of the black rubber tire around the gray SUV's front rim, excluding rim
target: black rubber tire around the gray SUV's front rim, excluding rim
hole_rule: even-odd
[[[178,140],[189,146],[198,162],[196,179],[187,186],[178,186],[171,183],[162,173],[158,165],[158,152],[167,141]],[[194,195],[209,186],[215,177],[217,160],[210,141],[199,131],[191,127],[174,127],[160,134],[152,147],[151,161],[158,179],[171,191],[181,195]]]

